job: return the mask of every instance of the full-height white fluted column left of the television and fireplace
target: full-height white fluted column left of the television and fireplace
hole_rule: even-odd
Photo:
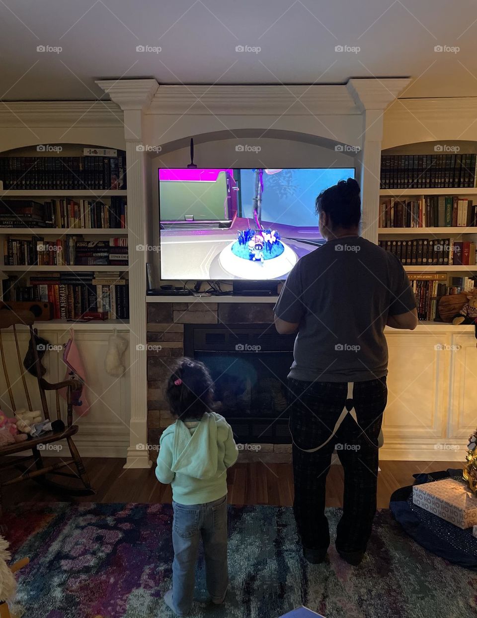
[[[157,91],[156,80],[96,82],[124,112],[128,182],[130,282],[130,443],[125,468],[149,468],[147,445],[146,171],[143,114]],[[138,148],[140,146],[140,148]]]

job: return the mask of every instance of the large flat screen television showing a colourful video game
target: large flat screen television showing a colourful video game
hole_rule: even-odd
[[[159,169],[160,276],[286,279],[324,242],[315,198],[352,167]]]

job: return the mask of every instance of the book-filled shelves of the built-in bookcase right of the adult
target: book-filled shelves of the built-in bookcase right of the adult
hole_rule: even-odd
[[[442,295],[471,290],[477,275],[476,155],[435,148],[381,157],[378,243],[409,273],[424,323],[439,320]]]

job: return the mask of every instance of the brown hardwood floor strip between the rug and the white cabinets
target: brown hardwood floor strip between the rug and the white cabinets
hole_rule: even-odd
[[[53,459],[53,458],[49,458]],[[156,480],[149,470],[123,470],[123,459],[83,459],[94,496],[73,498],[83,502],[171,502],[170,485]],[[389,497],[399,487],[412,485],[412,475],[460,467],[458,462],[380,462],[378,508],[389,506]],[[293,475],[291,464],[236,464],[228,471],[228,501],[231,504],[291,506]],[[326,480],[327,506],[342,506],[343,470],[332,465]],[[41,488],[33,481],[9,486],[4,491],[4,508],[17,502],[65,501],[64,496]]]

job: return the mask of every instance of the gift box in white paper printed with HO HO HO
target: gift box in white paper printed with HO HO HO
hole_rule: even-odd
[[[477,524],[477,496],[467,485],[453,478],[414,485],[412,501],[416,506],[459,528],[470,528]]]

